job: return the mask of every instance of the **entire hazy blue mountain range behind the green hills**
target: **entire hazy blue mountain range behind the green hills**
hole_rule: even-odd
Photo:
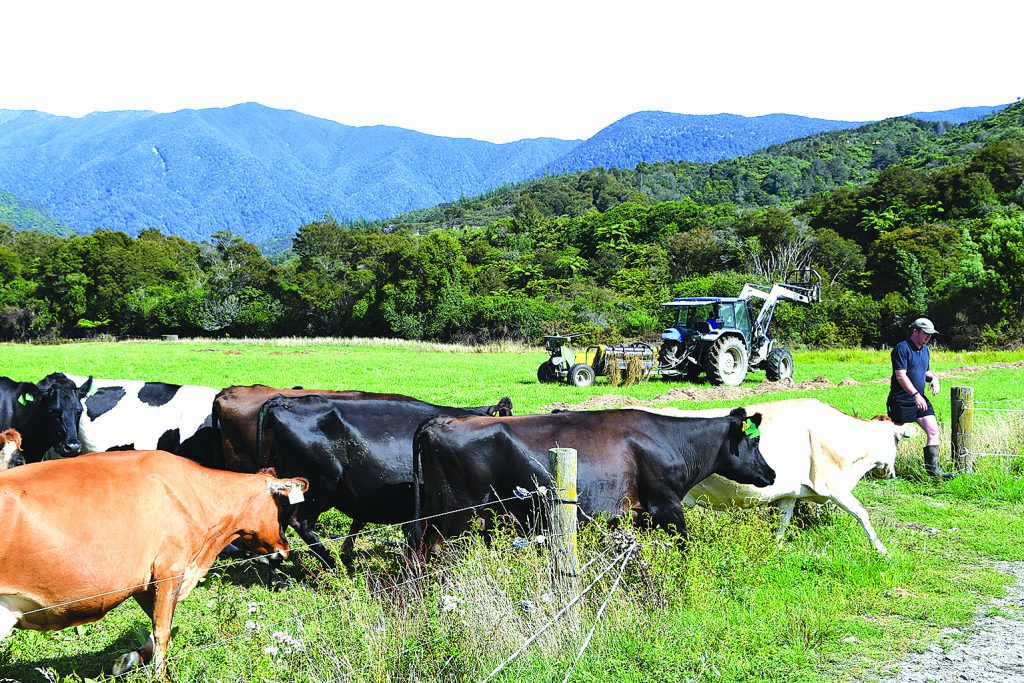
[[[999,109],[910,116],[962,123]],[[79,119],[0,110],[0,221],[56,233],[158,227],[191,241],[230,229],[261,243],[328,214],[388,218],[545,174],[718,161],[863,123],[639,112],[587,140],[497,144],[257,103]]]

